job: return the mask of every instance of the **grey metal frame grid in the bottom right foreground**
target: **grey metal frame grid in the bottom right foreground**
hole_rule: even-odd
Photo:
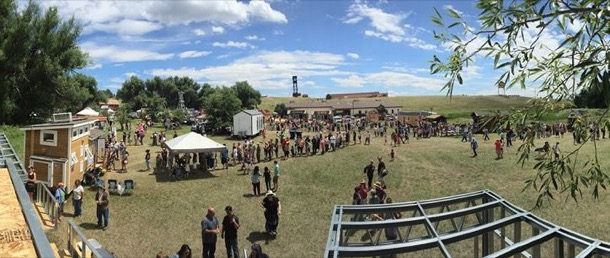
[[[388,213],[405,216],[373,219]],[[381,236],[388,229],[397,232],[396,239]],[[357,239],[359,233],[362,238]],[[473,251],[450,248],[456,245],[472,246]],[[443,257],[610,257],[610,244],[554,225],[483,190],[416,202],[336,205],[324,257],[424,251]]]

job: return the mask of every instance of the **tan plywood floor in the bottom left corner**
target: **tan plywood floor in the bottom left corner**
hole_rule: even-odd
[[[7,169],[0,169],[0,257],[36,257]]]

